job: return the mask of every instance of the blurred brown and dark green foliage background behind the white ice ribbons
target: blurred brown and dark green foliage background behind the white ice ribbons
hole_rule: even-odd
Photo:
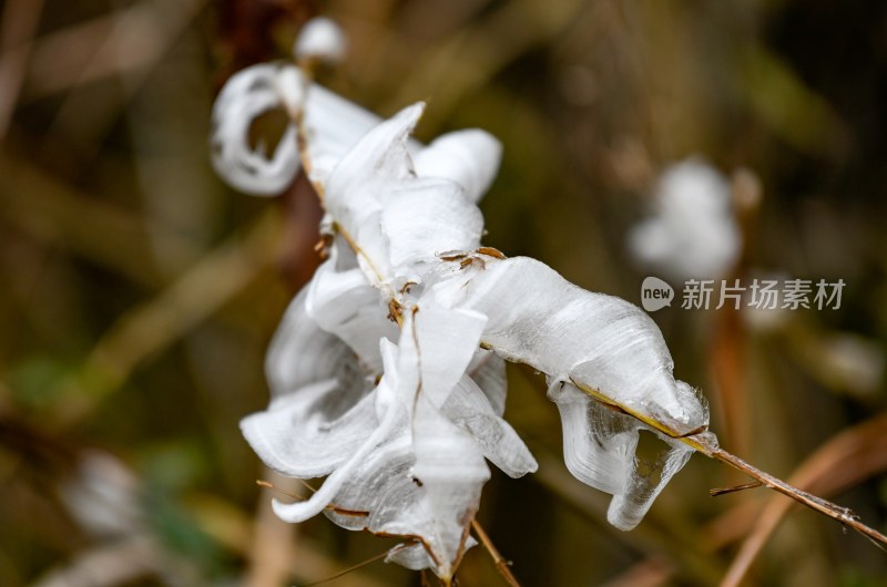
[[[215,93],[286,59],[312,16],[349,56],[320,81],[422,140],[504,144],[487,241],[640,301],[625,233],[657,174],[736,177],[736,275],[847,282],[839,310],[654,315],[733,452],[887,529],[887,4],[756,0],[6,0],[0,21],[0,585],[304,585],[390,546],[268,512],[237,422],[316,267],[296,184],[251,198],[208,165]],[[273,116],[267,125],[273,130]],[[744,186],[744,187],[743,187]],[[747,203],[747,202],[746,202]],[[511,365],[513,367],[513,365]],[[510,367],[510,369],[511,369]],[[694,459],[632,533],[567,473],[557,410],[510,370],[540,461],[493,476],[480,519],[526,586],[884,585],[887,556]],[[774,501],[776,500],[776,501]],[[768,536],[769,531],[772,536]],[[761,546],[759,552],[750,544]],[[768,539],[767,539],[768,537]],[[376,563],[330,585],[419,585]],[[480,548],[466,587],[502,584]]]

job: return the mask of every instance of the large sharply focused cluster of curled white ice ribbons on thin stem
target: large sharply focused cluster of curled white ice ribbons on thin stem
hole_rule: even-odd
[[[295,123],[275,153],[251,147],[252,120],[275,107],[303,121],[306,152]],[[689,459],[682,437],[707,434],[708,414],[643,311],[481,245],[477,203],[501,146],[479,130],[424,146],[410,138],[422,110],[380,121],[294,65],[256,65],[222,91],[212,144],[221,175],[251,193],[279,193],[304,166],[327,213],[329,256],[268,352],[271,404],[242,423],[272,468],[326,477],[275,512],[404,536],[389,559],[449,581],[473,543],[487,461],[513,477],[537,468],[502,419],[504,360],[546,373],[567,465],[613,495],[608,518],[623,529]],[[660,454],[635,454],[642,430]]]

